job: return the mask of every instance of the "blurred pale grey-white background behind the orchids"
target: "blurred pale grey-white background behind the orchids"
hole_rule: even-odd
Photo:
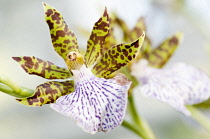
[[[12,56],[36,56],[65,67],[54,52],[41,2],[58,9],[86,48],[88,36],[105,6],[132,28],[139,17],[145,17],[147,36],[155,47],[175,32],[184,39],[167,66],[183,61],[210,75],[210,1],[209,0],[0,0],[0,73],[21,86],[34,89],[45,79],[29,76],[12,60]],[[122,36],[122,34],[119,34]],[[196,122],[166,104],[135,92],[140,115],[146,119],[158,139],[209,139]],[[204,111],[210,118],[210,113]],[[129,117],[127,117],[129,118]],[[48,105],[30,108],[0,93],[0,139],[138,139],[123,127],[104,134],[90,135],[76,123],[53,111]]]

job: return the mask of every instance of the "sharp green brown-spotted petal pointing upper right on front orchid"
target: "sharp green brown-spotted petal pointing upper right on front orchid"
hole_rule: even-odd
[[[110,48],[97,63],[92,72],[97,77],[108,78],[110,74],[127,65],[136,58],[144,41],[143,33],[135,42],[129,44],[119,44]]]

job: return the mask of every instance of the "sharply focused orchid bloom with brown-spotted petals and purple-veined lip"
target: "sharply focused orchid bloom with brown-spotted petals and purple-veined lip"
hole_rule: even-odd
[[[39,85],[28,98],[17,99],[27,106],[51,104],[57,112],[72,117],[86,132],[107,132],[119,126],[127,106],[129,81],[123,74],[111,78],[112,73],[127,65],[138,54],[144,33],[128,44],[119,44],[102,51],[109,32],[109,16],[105,9],[95,23],[83,58],[77,39],[66,25],[62,15],[43,4],[55,51],[64,59],[68,69],[34,56],[13,57],[29,74],[48,81]]]

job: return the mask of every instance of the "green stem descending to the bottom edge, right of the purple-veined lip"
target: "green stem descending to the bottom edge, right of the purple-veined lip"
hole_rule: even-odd
[[[147,122],[138,116],[138,113],[134,105],[133,96],[130,95],[128,100],[129,100],[130,114],[132,116],[133,122],[136,125],[135,129],[138,130],[138,133],[139,133],[138,135],[140,135],[143,139],[155,139],[155,136],[152,130],[150,129],[149,125],[147,124]],[[134,127],[135,126],[133,126],[133,128]],[[128,128],[128,129],[131,130],[131,128]],[[134,132],[134,130],[132,131]]]

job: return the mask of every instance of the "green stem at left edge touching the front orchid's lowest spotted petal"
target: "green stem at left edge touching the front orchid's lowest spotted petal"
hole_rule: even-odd
[[[4,75],[0,75],[0,91],[17,98],[30,97],[34,93],[33,90],[19,86]]]

